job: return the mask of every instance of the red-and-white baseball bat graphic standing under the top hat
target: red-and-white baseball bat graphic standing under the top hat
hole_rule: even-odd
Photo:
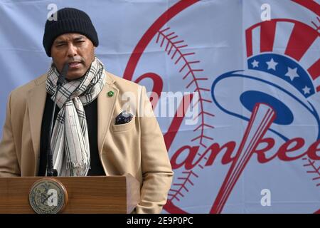
[[[238,181],[245,165],[250,160],[252,153],[255,151],[257,144],[270,128],[273,120],[276,118],[276,113],[270,105],[265,103],[256,103],[252,110],[252,114],[245,129],[245,134],[240,143],[235,160],[230,166],[228,174],[220,187],[213,207],[210,213],[221,213],[225,202],[227,202],[235,183]]]

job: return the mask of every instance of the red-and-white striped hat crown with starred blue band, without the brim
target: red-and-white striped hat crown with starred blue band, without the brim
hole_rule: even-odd
[[[274,19],[247,28],[245,36],[249,69],[282,78],[306,98],[320,91],[320,38],[314,28]]]

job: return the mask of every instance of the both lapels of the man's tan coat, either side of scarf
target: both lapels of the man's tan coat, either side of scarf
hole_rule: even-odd
[[[107,130],[110,127],[114,105],[117,100],[119,89],[115,85],[113,76],[105,71],[105,86],[97,97],[97,139],[99,153],[102,152],[103,143],[107,135]],[[28,92],[28,112],[30,118],[30,132],[35,155],[35,165],[38,170],[38,157],[40,156],[40,140],[41,140],[41,125],[43,119],[43,111],[46,105],[46,79],[47,75],[43,75],[36,79],[36,84]],[[109,91],[113,91],[112,96],[107,95]]]

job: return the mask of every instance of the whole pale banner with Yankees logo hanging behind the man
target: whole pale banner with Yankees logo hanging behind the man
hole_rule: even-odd
[[[0,124],[50,66],[50,10],[75,7],[107,71],[152,97],[175,172],[164,213],[319,213],[319,4],[0,0]]]

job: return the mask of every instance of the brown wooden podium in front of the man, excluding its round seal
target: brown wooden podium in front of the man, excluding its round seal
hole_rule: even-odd
[[[0,177],[0,214],[35,213],[29,193],[39,180],[63,184],[68,199],[61,213],[131,213],[140,199],[139,182],[132,175],[99,177]]]

